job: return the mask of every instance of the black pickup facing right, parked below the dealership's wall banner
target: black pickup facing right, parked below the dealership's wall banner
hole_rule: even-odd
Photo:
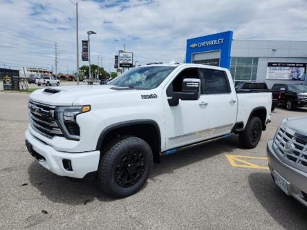
[[[303,84],[274,84],[273,90],[279,90],[279,105],[288,110],[307,106],[307,86]]]

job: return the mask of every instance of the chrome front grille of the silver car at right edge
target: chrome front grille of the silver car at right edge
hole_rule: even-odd
[[[273,148],[283,162],[307,172],[307,135],[283,126],[277,131]]]

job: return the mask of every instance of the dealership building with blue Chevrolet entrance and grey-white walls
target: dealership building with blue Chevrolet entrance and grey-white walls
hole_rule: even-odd
[[[234,82],[307,84],[307,41],[234,40],[232,35],[187,39],[186,62],[228,68]]]

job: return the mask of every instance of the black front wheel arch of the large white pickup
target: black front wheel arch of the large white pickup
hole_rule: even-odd
[[[100,133],[96,150],[101,150],[113,137],[118,135],[134,135],[142,138],[151,147],[154,161],[160,163],[161,134],[157,122],[151,119],[137,119],[107,126]]]

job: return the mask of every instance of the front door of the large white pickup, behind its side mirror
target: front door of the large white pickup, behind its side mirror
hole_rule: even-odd
[[[174,91],[182,90],[185,78],[199,78],[198,68],[182,70],[168,86]],[[180,100],[178,106],[169,106],[165,89],[165,137],[166,148],[176,148],[207,139],[209,113],[205,95],[196,101]],[[169,95],[170,96],[170,95]]]

